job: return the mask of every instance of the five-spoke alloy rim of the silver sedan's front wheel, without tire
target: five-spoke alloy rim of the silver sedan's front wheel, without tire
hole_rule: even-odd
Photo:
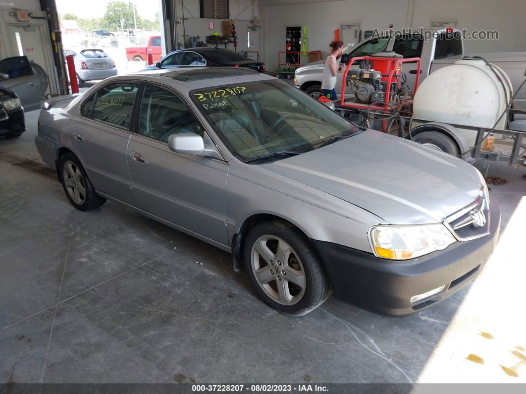
[[[305,269],[298,255],[285,240],[275,235],[256,239],[250,252],[252,271],[270,299],[281,305],[294,305],[305,294]]]

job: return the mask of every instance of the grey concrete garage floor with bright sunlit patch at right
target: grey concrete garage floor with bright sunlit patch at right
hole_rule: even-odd
[[[77,211],[6,163],[39,160],[37,115],[0,140],[0,383],[526,382],[524,169],[489,168],[509,181],[492,187],[502,235],[454,296],[406,318],[332,297],[290,318],[226,252],[110,202]]]

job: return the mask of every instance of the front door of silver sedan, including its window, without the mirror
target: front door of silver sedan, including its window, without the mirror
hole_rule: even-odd
[[[172,134],[205,136],[203,125],[179,95],[156,85],[146,85],[139,111],[138,127],[128,145],[131,185],[138,208],[228,244],[228,164],[177,154],[167,144]]]

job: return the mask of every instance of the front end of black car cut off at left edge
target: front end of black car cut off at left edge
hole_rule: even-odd
[[[0,136],[19,137],[25,130],[24,108],[18,96],[0,86]]]

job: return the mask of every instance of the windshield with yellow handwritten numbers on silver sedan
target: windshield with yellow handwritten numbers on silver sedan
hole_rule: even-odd
[[[325,105],[280,81],[197,89],[190,96],[230,151],[244,161],[305,153],[336,141],[334,137],[359,131]]]

